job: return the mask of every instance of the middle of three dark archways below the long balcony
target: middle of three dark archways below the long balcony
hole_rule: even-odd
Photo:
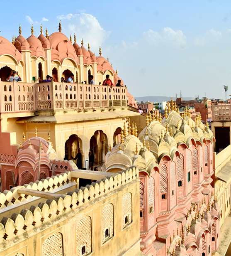
[[[107,135],[102,130],[95,131],[90,139],[90,149],[93,150],[95,164],[105,162],[105,155],[108,151]]]

